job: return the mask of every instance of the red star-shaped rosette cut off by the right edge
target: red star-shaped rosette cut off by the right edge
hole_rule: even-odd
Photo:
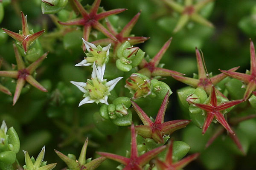
[[[233,77],[235,79],[239,79],[245,84],[247,84],[246,91],[244,93],[244,100],[247,100],[250,97],[252,91],[256,89],[256,56],[255,56],[255,48],[253,45],[253,41],[250,39],[250,74],[237,73],[221,70],[222,73],[228,75],[229,77]]]

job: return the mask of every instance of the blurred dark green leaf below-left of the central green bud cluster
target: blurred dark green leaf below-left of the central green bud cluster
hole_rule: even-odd
[[[114,125],[110,120],[102,119],[99,112],[93,114],[93,122],[96,128],[105,135],[118,132],[118,126]]]

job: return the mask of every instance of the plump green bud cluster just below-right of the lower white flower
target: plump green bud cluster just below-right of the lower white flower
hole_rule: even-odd
[[[112,104],[102,105],[99,114],[104,119],[110,119],[115,125],[128,126],[132,122],[130,106],[131,101],[128,97],[118,97]]]

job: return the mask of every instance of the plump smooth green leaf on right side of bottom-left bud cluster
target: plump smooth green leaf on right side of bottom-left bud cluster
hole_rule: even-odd
[[[7,130],[6,134],[9,136],[8,143],[13,145],[13,148],[14,148],[13,152],[18,153],[20,150],[20,139],[16,130],[13,127],[10,127]]]

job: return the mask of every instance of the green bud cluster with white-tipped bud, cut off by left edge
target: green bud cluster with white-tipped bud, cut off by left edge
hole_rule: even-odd
[[[0,127],[0,169],[6,168],[16,161],[16,153],[20,150],[20,140],[13,127],[7,128],[5,121]]]

